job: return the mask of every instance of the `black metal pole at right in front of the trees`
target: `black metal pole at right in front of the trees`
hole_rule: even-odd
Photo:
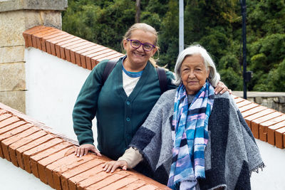
[[[246,30],[246,19],[247,19],[247,4],[246,0],[240,0],[242,6],[242,56],[243,56],[243,77],[244,77],[244,99],[247,99],[247,30]]]

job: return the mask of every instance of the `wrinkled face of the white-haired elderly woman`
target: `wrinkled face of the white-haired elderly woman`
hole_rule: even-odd
[[[199,54],[185,57],[180,73],[188,95],[198,93],[209,77],[209,71],[207,71],[204,60]]]

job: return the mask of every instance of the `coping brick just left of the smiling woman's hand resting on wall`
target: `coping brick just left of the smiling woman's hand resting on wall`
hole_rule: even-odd
[[[66,148],[72,147],[72,146],[73,146],[73,144],[71,144],[70,142],[62,142],[60,144],[56,144],[53,147],[49,147],[48,149],[43,150],[43,152],[39,152],[38,154],[30,157],[31,171],[32,171],[33,175],[39,178],[38,163],[37,163],[39,160],[44,159],[48,156],[51,156],[51,154],[59,152],[62,149],[66,149]]]

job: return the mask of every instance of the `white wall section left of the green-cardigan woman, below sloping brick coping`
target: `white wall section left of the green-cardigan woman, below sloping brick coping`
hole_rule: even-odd
[[[77,140],[73,132],[72,110],[90,70],[36,48],[26,48],[25,58],[26,115]],[[93,129],[96,141],[96,129]]]

